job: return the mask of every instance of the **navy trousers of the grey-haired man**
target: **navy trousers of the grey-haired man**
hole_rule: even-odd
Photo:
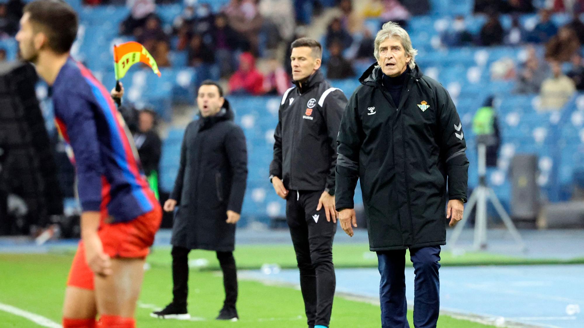
[[[440,246],[410,249],[413,263],[414,301],[413,326],[415,328],[436,327],[440,310]],[[381,282],[379,301],[381,304],[382,328],[409,328],[405,299],[405,249],[377,252]]]

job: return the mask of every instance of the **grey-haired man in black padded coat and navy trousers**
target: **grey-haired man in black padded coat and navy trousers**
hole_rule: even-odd
[[[406,249],[416,275],[413,323],[436,327],[444,217],[456,224],[467,199],[460,118],[446,89],[415,65],[415,54],[408,33],[385,23],[375,41],[377,64],[359,79],[338,137],[336,208],[341,227],[352,236],[360,179],[370,250],[377,252],[381,274],[383,328],[409,327]]]

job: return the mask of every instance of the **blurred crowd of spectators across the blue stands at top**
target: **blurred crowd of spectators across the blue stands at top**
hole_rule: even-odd
[[[171,51],[183,51],[187,65],[201,68],[201,74],[217,67],[230,93],[251,95],[281,95],[291,85],[289,44],[305,36],[311,20],[325,10],[334,14],[321,39],[323,67],[327,78],[346,79],[361,73],[352,63],[373,62],[374,29],[364,24],[366,20],[393,20],[407,29],[412,16],[431,9],[429,0],[231,0],[213,11],[204,1],[185,0],[172,26],[163,26],[157,6],[176,2],[84,0],[86,5],[128,6],[130,15],[120,23],[120,35],[144,44],[159,67],[172,65]],[[14,36],[22,6],[22,0],[0,4],[0,38]],[[536,12],[537,22],[522,20],[521,15]],[[583,12],[584,0],[475,0],[474,15],[485,17],[480,29],[471,32],[469,17],[456,16],[439,31],[437,47],[523,47],[526,58],[495,63],[503,65],[505,73],[493,78],[515,79],[515,93],[540,93],[544,99],[553,95],[560,100],[543,104],[561,107],[573,90],[584,90]],[[571,15],[571,20],[557,26],[555,13]],[[503,27],[501,15],[511,15],[510,27]],[[2,51],[0,60],[5,57]]]

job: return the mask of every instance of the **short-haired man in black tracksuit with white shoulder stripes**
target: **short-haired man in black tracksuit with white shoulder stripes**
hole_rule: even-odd
[[[326,328],[336,283],[336,136],[347,98],[319,71],[322,47],[316,40],[298,39],[291,48],[296,87],[286,90],[280,104],[270,182],[286,200],[308,326]]]

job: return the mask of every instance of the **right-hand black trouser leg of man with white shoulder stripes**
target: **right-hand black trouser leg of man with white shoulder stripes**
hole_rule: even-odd
[[[315,328],[329,326],[336,287],[335,267],[332,263],[332,242],[337,224],[332,219],[326,221],[324,207],[317,211],[321,194],[321,191],[307,191],[300,197],[305,212],[304,220],[308,226],[310,259],[317,281]]]

